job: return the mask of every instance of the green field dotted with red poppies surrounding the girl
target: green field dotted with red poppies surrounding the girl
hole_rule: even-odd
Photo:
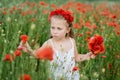
[[[89,52],[91,37],[103,38],[102,53],[95,59],[77,62],[73,71],[79,70],[80,80],[119,80],[120,4],[77,0],[60,4],[23,0],[0,7],[0,80],[52,80],[48,77],[50,60],[36,59],[18,46],[21,35],[27,35],[32,49],[42,46],[50,38],[49,13],[57,8],[69,10],[74,16],[74,38],[80,54]]]

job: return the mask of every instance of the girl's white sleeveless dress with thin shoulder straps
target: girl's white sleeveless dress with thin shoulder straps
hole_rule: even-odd
[[[53,60],[50,62],[50,73],[52,80],[79,80],[79,71],[72,71],[75,67],[74,44],[71,40],[72,48],[67,52],[55,50],[52,39],[50,39],[54,50]]]

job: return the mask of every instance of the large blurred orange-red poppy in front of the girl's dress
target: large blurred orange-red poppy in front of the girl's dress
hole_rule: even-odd
[[[36,57],[38,59],[53,60],[53,49],[51,47],[40,48],[36,51]]]

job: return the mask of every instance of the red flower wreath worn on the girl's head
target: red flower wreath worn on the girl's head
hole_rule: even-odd
[[[73,21],[73,16],[71,15],[71,13],[69,11],[65,11],[63,9],[56,9],[54,11],[52,11],[49,15],[49,20],[51,19],[52,16],[54,15],[61,15],[65,18],[65,20],[67,20],[67,22],[70,24]]]

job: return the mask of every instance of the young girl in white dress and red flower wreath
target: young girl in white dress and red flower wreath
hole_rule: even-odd
[[[72,31],[73,16],[68,11],[57,9],[50,13],[51,38],[40,49],[50,46],[54,51],[54,58],[50,62],[50,72],[53,80],[79,80],[79,71],[73,71],[75,61],[81,62],[94,58],[92,52],[79,54]],[[20,43],[25,51],[36,56],[37,50],[32,50],[28,43]],[[92,56],[92,57],[91,57]],[[63,80],[62,79],[62,80]]]

